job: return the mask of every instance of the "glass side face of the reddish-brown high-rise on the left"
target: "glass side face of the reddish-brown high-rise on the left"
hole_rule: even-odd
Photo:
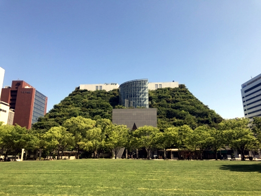
[[[45,100],[46,100],[46,96],[43,95],[41,92],[35,90],[35,101],[34,101],[32,125],[38,121],[39,117],[44,116]]]

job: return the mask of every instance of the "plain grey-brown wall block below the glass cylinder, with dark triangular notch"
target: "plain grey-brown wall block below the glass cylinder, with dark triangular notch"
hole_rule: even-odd
[[[113,109],[112,123],[126,125],[131,130],[145,125],[157,127],[157,109]]]

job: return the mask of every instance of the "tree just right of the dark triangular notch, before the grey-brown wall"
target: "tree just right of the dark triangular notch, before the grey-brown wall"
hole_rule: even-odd
[[[157,145],[157,134],[159,129],[152,126],[139,127],[133,132],[133,136],[140,148],[144,147],[147,151],[147,159],[150,159],[151,148]]]

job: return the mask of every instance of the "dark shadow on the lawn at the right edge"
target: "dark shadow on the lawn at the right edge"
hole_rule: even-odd
[[[219,169],[230,170],[230,171],[239,171],[239,172],[260,172],[261,173],[261,164],[238,164],[238,165],[222,165]]]

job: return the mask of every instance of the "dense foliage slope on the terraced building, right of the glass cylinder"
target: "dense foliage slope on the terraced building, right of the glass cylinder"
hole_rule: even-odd
[[[185,86],[179,88],[158,88],[149,92],[150,108],[158,109],[158,123],[161,131],[168,126],[189,125],[195,129],[201,125],[217,126],[223,119],[203,105]]]

